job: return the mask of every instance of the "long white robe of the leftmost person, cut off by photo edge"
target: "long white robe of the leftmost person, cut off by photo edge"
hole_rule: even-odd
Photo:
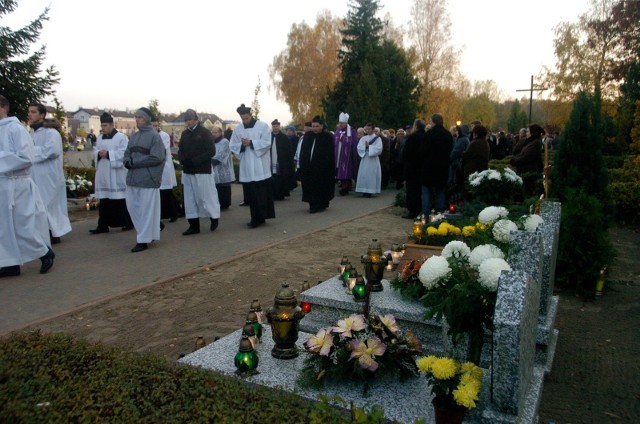
[[[16,117],[0,119],[0,267],[49,251],[49,224],[31,179],[33,141]]]

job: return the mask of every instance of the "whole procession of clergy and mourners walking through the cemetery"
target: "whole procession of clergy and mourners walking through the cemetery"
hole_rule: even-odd
[[[46,119],[46,108],[40,103],[29,106],[30,133],[9,116],[7,99],[0,99],[0,109],[0,178],[11,183],[10,190],[7,184],[3,186],[0,202],[13,205],[13,216],[2,222],[12,236],[0,242],[0,250],[11,252],[0,261],[0,277],[19,275],[20,266],[36,258],[41,259],[41,272],[46,273],[55,257],[51,245],[71,231],[60,125]],[[185,130],[177,143],[183,189],[178,199],[173,190],[177,179],[170,136],[162,131],[159,117],[147,107],[137,109],[136,131],[128,137],[116,129],[113,116],[104,112],[93,150],[99,206],[98,222],[90,234],[135,229],[131,252],[136,253],[160,240],[163,219],[175,222],[184,216],[189,224],[184,236],[200,233],[201,218],[208,218],[209,230],[215,231],[221,210],[231,205],[236,180],[243,191],[241,206],[249,206],[250,229],[275,219],[277,202],[289,199],[298,182],[310,214],[327,211],[336,190],[340,196],[370,198],[391,182],[397,190],[406,187],[403,217],[413,219],[432,209],[443,211],[447,197],[461,195],[464,179],[471,172],[488,168],[491,155],[488,131],[480,122],[470,124],[469,140],[469,126],[447,130],[437,113],[429,124],[416,119],[396,132],[381,130],[371,122],[356,128],[349,123],[349,114],[340,112],[335,131],[316,116],[305,123],[303,131],[287,126],[286,134],[278,119],[269,126],[244,104],[237,113],[241,122],[223,131],[219,126],[206,128],[193,109],[184,112]],[[526,132],[532,140],[517,144],[524,146],[515,149],[512,159],[518,168],[531,168],[525,162],[536,156],[532,152],[534,146],[539,147],[535,139],[540,138],[540,130],[532,126]],[[501,133],[497,143],[506,144],[505,137]]]

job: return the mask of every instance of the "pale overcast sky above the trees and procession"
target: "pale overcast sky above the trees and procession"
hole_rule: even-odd
[[[380,16],[408,22],[413,0],[381,0]],[[471,80],[494,80],[508,95],[528,88],[542,65],[553,66],[553,31],[575,21],[588,0],[449,0],[453,44]],[[237,119],[250,105],[258,77],[260,118],[288,122],[286,104],[269,89],[267,68],[293,23],[315,24],[322,9],[346,16],[347,0],[18,0],[0,17],[17,29],[50,6],[37,46],[60,72],[58,98],[79,107],[135,109],[158,99],[163,113],[187,108]],[[406,37],[405,37],[406,42]],[[525,93],[526,95],[526,93]]]

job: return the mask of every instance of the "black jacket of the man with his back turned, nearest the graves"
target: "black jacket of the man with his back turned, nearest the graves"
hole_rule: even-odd
[[[449,156],[453,147],[453,136],[442,125],[434,125],[425,136],[420,149],[423,186],[445,188],[449,180]]]

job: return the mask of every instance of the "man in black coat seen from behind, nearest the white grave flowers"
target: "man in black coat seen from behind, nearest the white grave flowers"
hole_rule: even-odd
[[[445,208],[445,192],[449,178],[449,155],[453,147],[453,137],[444,127],[444,119],[439,113],[431,116],[432,127],[425,135],[421,146],[422,213],[436,212]],[[406,148],[406,147],[405,147]],[[431,196],[434,201],[431,202]]]

